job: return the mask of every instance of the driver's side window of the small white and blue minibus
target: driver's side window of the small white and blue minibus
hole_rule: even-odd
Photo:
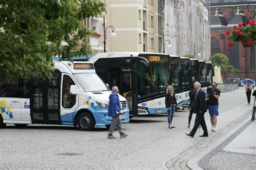
[[[74,81],[69,76],[64,75],[62,106],[65,108],[71,108],[76,104],[76,95],[70,94],[70,86],[71,85],[75,85]]]

